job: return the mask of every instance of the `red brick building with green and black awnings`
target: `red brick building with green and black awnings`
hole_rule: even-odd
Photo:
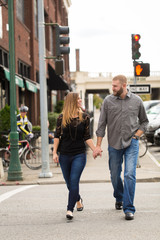
[[[9,39],[7,0],[0,0],[0,109],[10,104],[9,95]],[[39,124],[39,49],[38,49],[38,0],[13,0],[15,35],[15,81],[17,107],[29,106],[29,119]],[[4,5],[6,3],[6,5]],[[70,0],[44,0],[45,23],[68,26]],[[46,57],[55,55],[55,28],[45,25]],[[54,111],[58,100],[70,89],[69,56],[64,55],[64,75],[55,74],[53,59],[45,60],[48,111]]]

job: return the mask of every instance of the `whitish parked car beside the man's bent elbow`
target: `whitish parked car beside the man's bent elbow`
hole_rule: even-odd
[[[154,119],[150,119],[147,130],[145,132],[146,138],[148,142],[154,143],[154,134],[157,129],[160,128],[160,113],[155,116]]]

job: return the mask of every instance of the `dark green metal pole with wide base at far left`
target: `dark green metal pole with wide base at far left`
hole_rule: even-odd
[[[13,0],[8,1],[8,22],[9,22],[9,69],[10,69],[10,144],[11,158],[8,170],[8,180],[22,180],[21,164],[18,155],[17,132],[17,107],[16,107],[16,83],[15,83],[15,49],[14,49],[14,11]]]

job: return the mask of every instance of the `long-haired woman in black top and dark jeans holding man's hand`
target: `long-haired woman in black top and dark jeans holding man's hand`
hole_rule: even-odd
[[[82,100],[78,93],[68,93],[65,97],[62,114],[57,119],[54,136],[53,160],[59,162],[63,177],[69,190],[66,218],[73,218],[77,211],[83,210],[83,201],[79,195],[79,181],[86,165],[86,145],[94,151],[95,146],[90,137],[90,118],[81,110]],[[57,150],[60,153],[58,158]]]

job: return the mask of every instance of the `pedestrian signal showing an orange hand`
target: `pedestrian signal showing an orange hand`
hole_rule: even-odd
[[[136,77],[148,77],[150,76],[150,64],[149,63],[134,63],[134,75]]]

